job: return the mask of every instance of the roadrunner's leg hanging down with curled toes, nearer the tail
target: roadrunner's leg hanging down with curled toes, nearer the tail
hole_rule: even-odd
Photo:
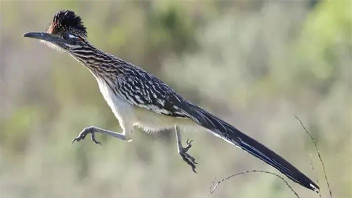
[[[181,158],[192,167],[193,172],[197,173],[196,171],[196,160],[194,159],[194,157],[192,157],[190,154],[187,153],[188,149],[190,149],[192,147],[192,141],[189,141],[189,139],[187,139],[186,143],[186,147],[182,146],[181,143],[181,133],[180,133],[180,128],[175,126],[175,131],[176,131],[176,138],[177,138],[177,148],[179,151],[179,154],[181,156]]]

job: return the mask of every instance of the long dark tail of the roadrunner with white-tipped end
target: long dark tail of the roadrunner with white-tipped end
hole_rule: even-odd
[[[193,105],[193,108],[191,109],[192,110],[188,112],[190,113],[191,119],[212,131],[216,136],[220,136],[227,142],[230,142],[265,161],[302,186],[316,192],[319,191],[319,186],[317,184],[274,151],[243,134],[235,127],[213,116],[202,108]]]

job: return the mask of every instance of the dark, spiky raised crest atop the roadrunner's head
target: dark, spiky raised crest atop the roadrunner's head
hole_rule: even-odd
[[[70,31],[84,37],[87,36],[87,31],[80,17],[69,10],[61,10],[55,13],[47,32],[50,34],[60,34],[65,31]]]

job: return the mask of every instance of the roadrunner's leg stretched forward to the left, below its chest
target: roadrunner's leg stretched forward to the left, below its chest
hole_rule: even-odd
[[[121,140],[127,140],[127,141],[132,140],[132,139],[127,139],[124,134],[116,133],[116,132],[109,131],[109,130],[106,130],[106,129],[101,129],[101,128],[98,128],[98,127],[91,126],[91,127],[84,128],[79,133],[79,135],[72,140],[72,143],[75,142],[75,141],[79,142],[80,140],[83,140],[87,134],[91,134],[91,139],[93,140],[93,142],[96,143],[96,144],[100,144],[100,142],[96,139],[95,133],[105,133],[105,134],[108,134],[110,136],[119,138]]]

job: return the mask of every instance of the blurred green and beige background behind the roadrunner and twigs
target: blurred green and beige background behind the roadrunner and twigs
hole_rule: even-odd
[[[136,130],[130,143],[97,135],[71,145],[87,126],[120,131],[97,82],[67,54],[28,31],[53,14],[81,16],[98,48],[141,66],[264,143],[301,171],[316,174],[313,144],[325,160],[334,197],[351,197],[350,1],[2,1],[0,81],[1,197],[206,197],[214,175],[276,171],[205,132],[177,153],[174,132]],[[318,197],[290,181],[301,197]],[[294,197],[272,175],[249,173],[211,197]]]

